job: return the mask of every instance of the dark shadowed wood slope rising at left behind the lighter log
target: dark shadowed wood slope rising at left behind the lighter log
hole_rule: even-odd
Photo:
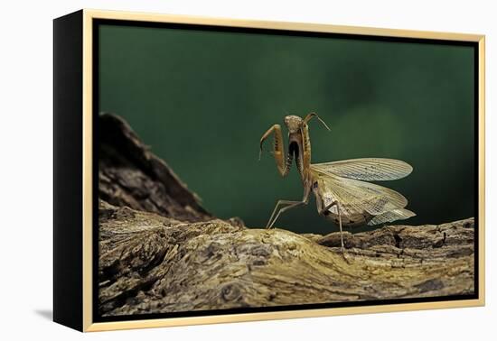
[[[98,197],[116,206],[188,221],[210,219],[200,198],[121,117],[98,117]]]

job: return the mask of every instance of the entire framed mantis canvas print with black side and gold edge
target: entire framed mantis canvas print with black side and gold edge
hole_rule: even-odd
[[[56,322],[484,304],[483,35],[82,10],[53,63]]]

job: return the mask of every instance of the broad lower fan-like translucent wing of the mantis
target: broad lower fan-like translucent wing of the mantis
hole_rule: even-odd
[[[393,189],[361,180],[341,178],[326,172],[313,171],[317,188],[314,191],[323,198],[324,205],[338,201],[342,215],[352,216],[369,213],[378,216],[408,205],[408,199]],[[338,214],[336,206],[330,210]]]

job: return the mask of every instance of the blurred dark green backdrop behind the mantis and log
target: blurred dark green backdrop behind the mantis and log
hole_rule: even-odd
[[[99,26],[99,110],[123,116],[217,217],[265,226],[300,199],[258,142],[287,114],[311,122],[313,161],[408,161],[408,224],[474,217],[474,48],[418,42]],[[286,133],[285,133],[286,135]],[[266,145],[270,147],[270,141]],[[314,198],[277,226],[327,233]]]

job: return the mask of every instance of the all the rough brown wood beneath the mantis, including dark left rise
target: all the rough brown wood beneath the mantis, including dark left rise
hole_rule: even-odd
[[[474,292],[473,218],[345,233],[342,254],[338,233],[211,217],[124,121],[101,119],[114,136],[100,152],[103,316]]]

